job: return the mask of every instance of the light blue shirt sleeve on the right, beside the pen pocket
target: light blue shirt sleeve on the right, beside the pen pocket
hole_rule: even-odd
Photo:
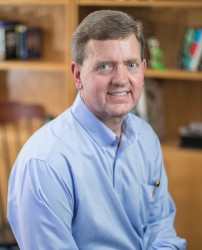
[[[176,207],[168,192],[168,181],[158,141],[156,168],[159,170],[160,185],[156,187],[150,209],[149,222],[145,231],[145,249],[186,249],[186,240],[179,238],[174,228]],[[155,188],[155,187],[154,187]]]

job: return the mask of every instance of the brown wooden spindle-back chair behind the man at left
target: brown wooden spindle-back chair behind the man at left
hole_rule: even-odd
[[[17,246],[7,220],[8,178],[27,139],[46,119],[42,106],[0,103],[0,248]]]

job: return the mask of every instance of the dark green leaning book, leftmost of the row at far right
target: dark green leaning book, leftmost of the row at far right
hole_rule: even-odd
[[[180,56],[179,56],[179,67],[181,69],[185,68],[185,64],[187,61],[187,57],[189,55],[191,43],[194,39],[194,35],[195,35],[195,29],[193,27],[188,27],[185,30],[185,34],[184,34],[184,38],[182,42],[182,48],[181,48]]]

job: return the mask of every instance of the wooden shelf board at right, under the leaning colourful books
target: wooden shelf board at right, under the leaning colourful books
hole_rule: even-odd
[[[166,70],[153,70],[147,69],[145,72],[146,78],[160,78],[160,79],[175,79],[175,80],[192,80],[201,81],[202,72],[190,72],[180,69],[166,69]]]

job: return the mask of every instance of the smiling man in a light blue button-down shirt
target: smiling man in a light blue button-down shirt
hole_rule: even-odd
[[[144,85],[144,39],[119,11],[86,17],[71,43],[79,93],[37,131],[9,181],[21,249],[186,249],[157,136],[129,114]]]

